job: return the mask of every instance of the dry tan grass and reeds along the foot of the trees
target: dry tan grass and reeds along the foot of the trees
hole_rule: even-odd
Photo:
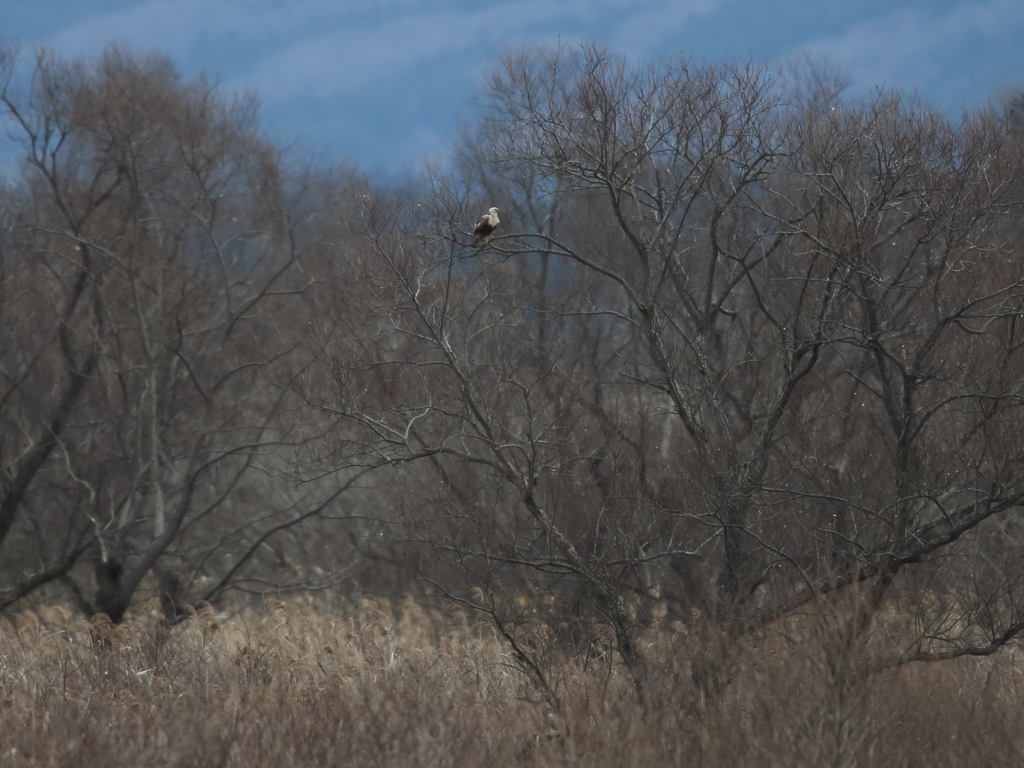
[[[1024,660],[846,685],[784,640],[692,706],[685,632],[647,639],[641,705],[614,658],[531,641],[553,710],[485,623],[412,601],[199,606],[159,630],[60,608],[0,632],[0,766],[996,766],[1024,763]]]

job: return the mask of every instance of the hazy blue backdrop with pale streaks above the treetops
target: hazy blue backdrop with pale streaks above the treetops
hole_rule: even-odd
[[[157,50],[255,91],[270,135],[400,175],[442,158],[508,46],[595,40],[635,56],[810,53],[850,93],[920,91],[958,115],[1024,89],[1024,0],[35,0],[3,35],[31,49]]]

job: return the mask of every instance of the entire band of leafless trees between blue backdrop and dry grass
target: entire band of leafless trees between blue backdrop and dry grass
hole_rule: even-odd
[[[902,616],[877,668],[1024,630],[1012,116],[525,49],[394,193],[164,57],[14,61],[0,605],[439,594],[552,700],[538,626],[641,694],[702,633],[706,695],[807,613],[837,665]]]

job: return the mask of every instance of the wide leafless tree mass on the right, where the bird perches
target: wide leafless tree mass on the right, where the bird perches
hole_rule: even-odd
[[[641,690],[655,602],[710,620],[706,692],[801,610],[834,616],[836,664],[908,600],[932,629],[880,665],[1015,637],[1016,571],[949,564],[1019,556],[1005,121],[596,46],[510,54],[492,94],[462,181],[366,201],[374,341],[325,357],[339,431],[407,467],[389,504],[435,582],[503,627],[596,620]]]

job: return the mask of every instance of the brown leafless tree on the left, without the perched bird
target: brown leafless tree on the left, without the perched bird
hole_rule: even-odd
[[[4,311],[32,314],[7,327],[0,542],[67,538],[42,573],[85,609],[120,621],[154,574],[175,615],[351,479],[294,481],[304,438],[282,384],[319,244],[305,182],[285,177],[251,98],[181,82],[165,58],[41,53],[27,90],[6,82],[25,156],[5,266],[25,293]],[[70,571],[84,553],[94,572]]]

